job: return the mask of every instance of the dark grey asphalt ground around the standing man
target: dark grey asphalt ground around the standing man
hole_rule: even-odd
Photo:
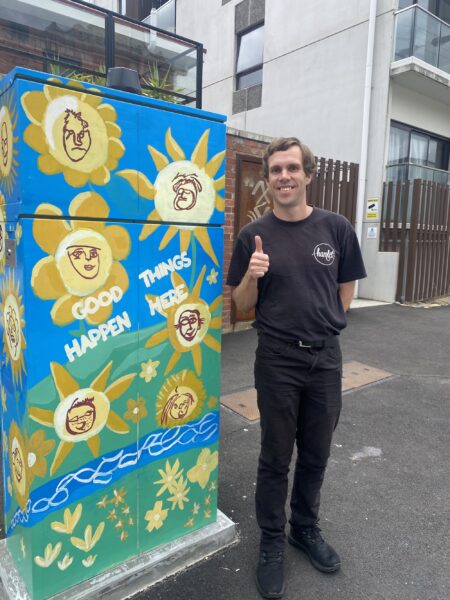
[[[450,599],[450,306],[352,309],[344,361],[392,373],[348,391],[322,491],[320,526],[341,555],[316,571],[286,548],[286,600]],[[223,338],[222,394],[253,386],[253,330]],[[219,508],[238,541],[133,600],[257,600],[259,423],[221,409]],[[294,457],[295,459],[295,457]]]

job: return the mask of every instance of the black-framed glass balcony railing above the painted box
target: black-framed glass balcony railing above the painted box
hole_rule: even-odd
[[[16,66],[99,85],[128,67],[144,94],[202,104],[202,44],[83,0],[0,0],[0,76]]]

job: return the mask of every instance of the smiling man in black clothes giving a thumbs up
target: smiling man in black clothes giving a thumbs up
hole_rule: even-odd
[[[306,203],[306,187],[316,171],[311,150],[297,138],[274,140],[263,169],[273,212],[240,232],[227,283],[239,310],[256,307],[255,387],[261,417],[256,585],[264,598],[281,598],[284,507],[294,443],[288,541],[320,571],[340,567],[317,525],[320,489],[341,410],[338,336],[346,326],[355,280],[366,273],[350,223]]]

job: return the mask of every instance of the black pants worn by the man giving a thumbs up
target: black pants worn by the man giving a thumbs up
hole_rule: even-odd
[[[307,349],[260,335],[255,361],[261,416],[256,518],[262,550],[284,547],[294,442],[297,462],[290,523],[304,527],[318,522],[320,489],[342,405],[341,377],[338,337],[323,348]]]

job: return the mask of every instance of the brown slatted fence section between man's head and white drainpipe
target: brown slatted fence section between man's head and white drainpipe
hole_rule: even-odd
[[[308,204],[340,213],[355,225],[357,164],[318,158],[316,177],[307,189]]]

